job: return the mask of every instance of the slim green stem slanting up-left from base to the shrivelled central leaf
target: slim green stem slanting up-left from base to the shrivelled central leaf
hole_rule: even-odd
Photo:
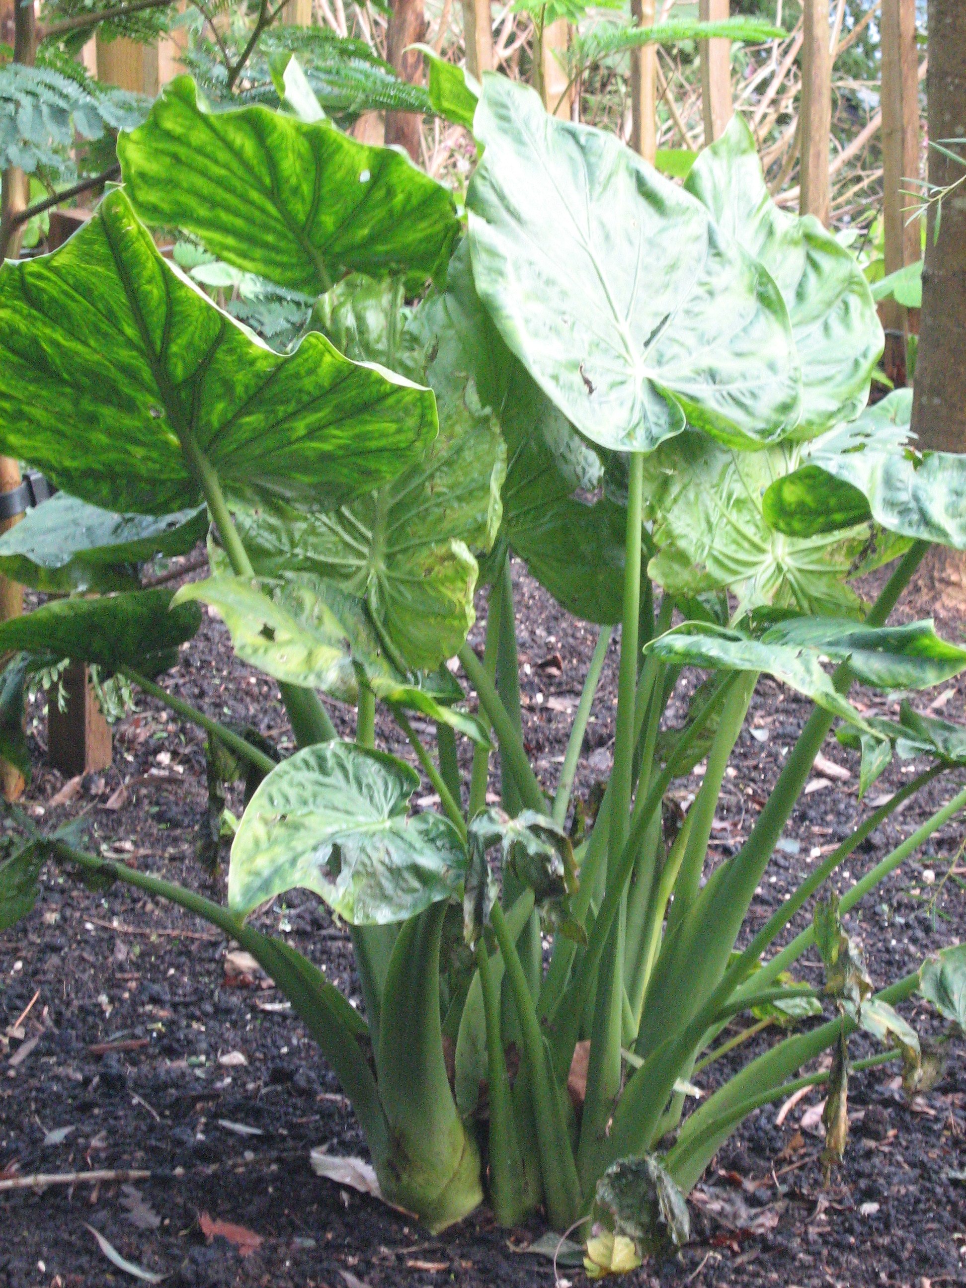
[[[523,972],[516,944],[513,942],[498,903],[493,904],[491,918],[520,1024],[523,1052],[533,1097],[533,1118],[540,1141],[547,1216],[555,1230],[565,1230],[581,1211],[582,1195],[563,1106],[550,1069],[549,1052],[544,1046],[527,976]]]

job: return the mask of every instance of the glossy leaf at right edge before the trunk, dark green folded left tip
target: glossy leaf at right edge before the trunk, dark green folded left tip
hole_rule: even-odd
[[[864,514],[903,537],[966,550],[966,456],[918,452],[911,417],[912,390],[899,389],[804,444],[801,468],[765,493],[772,527],[829,532]]]

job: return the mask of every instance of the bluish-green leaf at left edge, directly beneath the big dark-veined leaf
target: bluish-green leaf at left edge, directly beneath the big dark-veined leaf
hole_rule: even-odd
[[[58,492],[0,537],[0,572],[45,594],[125,590],[139,563],[187,554],[206,531],[205,509],[113,514]]]

